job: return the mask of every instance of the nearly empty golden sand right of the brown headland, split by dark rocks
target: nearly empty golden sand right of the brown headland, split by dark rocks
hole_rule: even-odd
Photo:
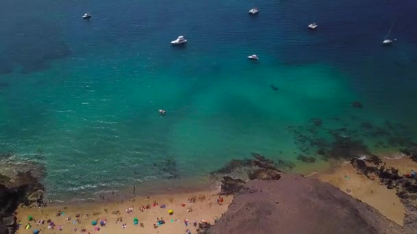
[[[417,163],[408,157],[396,159],[383,157],[382,160],[387,166],[398,169],[399,174],[407,174],[412,169],[417,169]],[[316,178],[339,187],[346,194],[379,210],[388,219],[403,225],[405,208],[400,198],[396,196],[396,190],[388,190],[385,185],[380,185],[377,177],[370,180],[363,174],[358,174],[351,164],[344,163],[332,172],[317,174]]]

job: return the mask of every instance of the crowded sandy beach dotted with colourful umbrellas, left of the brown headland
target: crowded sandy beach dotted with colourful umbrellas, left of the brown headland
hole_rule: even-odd
[[[71,205],[49,205],[43,209],[19,208],[18,233],[197,233],[198,223],[213,224],[228,208],[233,196],[222,196],[217,203],[219,191],[205,191],[184,194],[165,194],[150,197],[136,197],[114,203],[79,203]],[[155,204],[154,204],[155,203]],[[163,207],[163,208],[162,208]],[[131,210],[130,210],[131,209]],[[174,211],[169,214],[169,210]],[[58,216],[59,214],[59,216]],[[32,216],[34,220],[29,221]],[[134,224],[134,218],[138,223]],[[38,224],[40,220],[44,224]],[[53,222],[48,229],[47,221]],[[93,225],[92,222],[97,221]],[[158,220],[164,224],[156,225]],[[101,221],[105,221],[103,226]],[[25,226],[30,224],[29,229]],[[123,228],[123,224],[126,227]],[[197,226],[195,226],[197,224]],[[60,231],[60,228],[62,229]],[[97,230],[99,229],[99,230]]]

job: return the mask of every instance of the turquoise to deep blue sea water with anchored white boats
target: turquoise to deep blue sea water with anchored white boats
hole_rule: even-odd
[[[414,1],[4,2],[0,151],[45,164],[50,196],[320,159],[300,135],[344,127],[372,153],[416,142]]]

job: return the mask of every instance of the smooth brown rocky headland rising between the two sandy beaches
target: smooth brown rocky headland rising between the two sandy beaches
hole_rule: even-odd
[[[246,183],[207,233],[405,233],[379,211],[337,187],[298,175]]]

